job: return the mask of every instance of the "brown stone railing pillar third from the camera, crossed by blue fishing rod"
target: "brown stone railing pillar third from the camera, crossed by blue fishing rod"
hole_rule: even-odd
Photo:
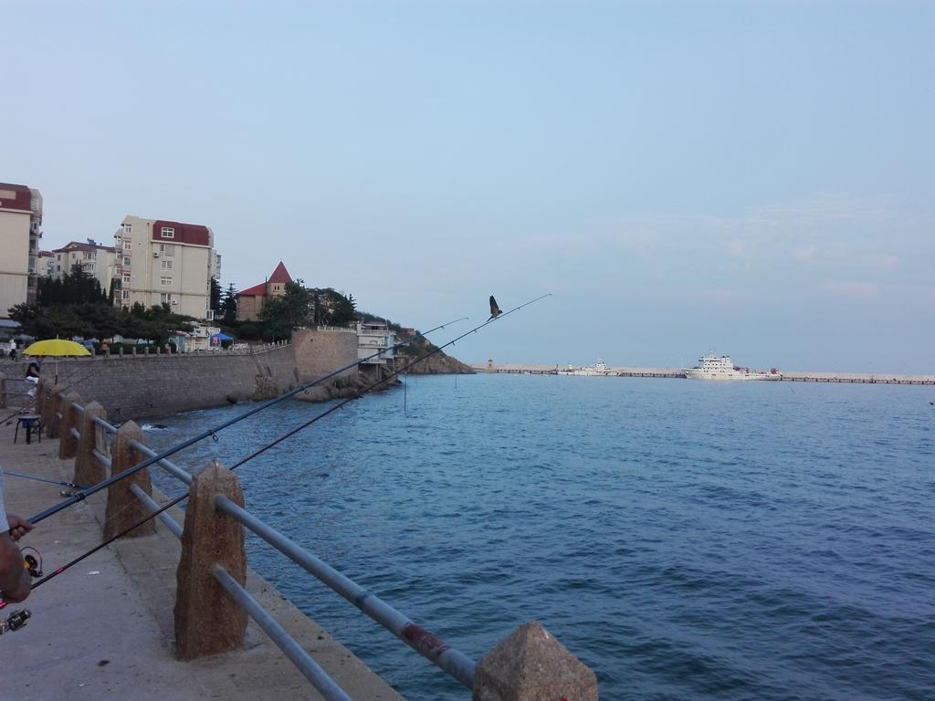
[[[146,459],[145,455],[140,455],[130,447],[131,440],[143,443],[143,429],[137,426],[135,422],[126,422],[117,429],[117,435],[114,436],[114,442],[110,449],[111,477],[119,475],[124,470],[138,465]],[[130,477],[125,477],[108,487],[108,508],[105,514],[106,521],[104,522],[105,538],[116,536],[125,528],[132,526],[151,513],[149,508],[140,503],[137,495],[130,491],[131,484],[137,484],[146,494],[152,494],[149,468],[144,467]],[[149,536],[155,532],[155,529],[155,523],[148,521],[138,528],[134,528],[124,537]]]

